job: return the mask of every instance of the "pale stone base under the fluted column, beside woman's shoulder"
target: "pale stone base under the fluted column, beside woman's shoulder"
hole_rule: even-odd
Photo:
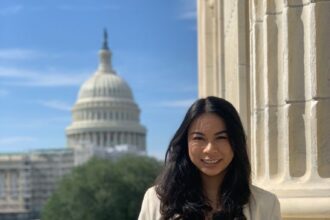
[[[330,179],[292,178],[256,185],[278,196],[283,220],[330,220]]]

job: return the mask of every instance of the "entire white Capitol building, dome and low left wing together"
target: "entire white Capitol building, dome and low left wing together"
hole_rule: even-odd
[[[81,86],[67,148],[0,154],[0,219],[38,219],[61,177],[91,157],[146,153],[146,128],[129,85],[112,67],[104,31],[96,72]]]

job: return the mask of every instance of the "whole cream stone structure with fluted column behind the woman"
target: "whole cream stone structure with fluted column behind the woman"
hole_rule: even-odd
[[[236,106],[284,219],[330,219],[330,1],[197,2],[199,96]]]

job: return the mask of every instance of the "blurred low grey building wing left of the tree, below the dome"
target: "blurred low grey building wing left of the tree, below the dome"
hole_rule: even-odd
[[[70,149],[0,155],[0,219],[37,219],[73,159]]]

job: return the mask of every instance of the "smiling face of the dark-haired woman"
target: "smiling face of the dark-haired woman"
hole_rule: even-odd
[[[188,130],[188,152],[202,175],[222,178],[234,157],[222,118],[213,113],[196,118]]]

